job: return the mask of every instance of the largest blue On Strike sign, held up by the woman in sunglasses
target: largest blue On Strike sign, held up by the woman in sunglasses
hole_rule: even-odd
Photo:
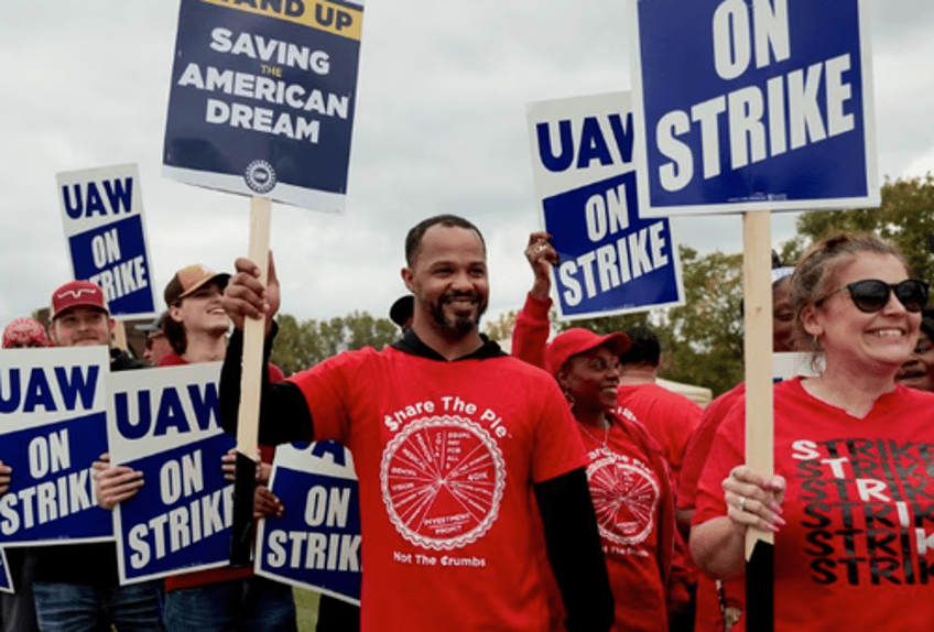
[[[864,7],[630,0],[642,216],[878,206]]]

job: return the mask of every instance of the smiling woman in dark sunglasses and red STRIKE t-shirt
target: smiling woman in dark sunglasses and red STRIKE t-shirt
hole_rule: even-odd
[[[934,629],[934,394],[895,382],[927,285],[870,236],[812,246],[791,277],[795,327],[825,368],[774,388],[775,476],[742,464],[727,414],[700,476],[691,551],[743,569],[750,526],[775,532],[775,630]]]

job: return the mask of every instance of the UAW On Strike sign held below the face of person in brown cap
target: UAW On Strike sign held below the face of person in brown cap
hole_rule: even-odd
[[[113,511],[121,584],[226,566],[234,486],[221,458],[234,437],[220,426],[220,363],[111,375],[110,458],[143,473]]]

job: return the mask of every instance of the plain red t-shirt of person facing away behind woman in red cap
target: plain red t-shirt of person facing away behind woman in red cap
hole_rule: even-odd
[[[700,423],[702,408],[684,395],[653,383],[620,384],[616,412],[631,411],[662,446],[677,484],[687,439]]]

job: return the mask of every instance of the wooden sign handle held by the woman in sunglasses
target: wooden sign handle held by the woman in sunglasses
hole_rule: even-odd
[[[747,211],[743,226],[743,318],[746,322],[746,465],[771,478],[774,472],[772,418],[771,217]],[[774,534],[746,532],[746,629],[774,628]]]

